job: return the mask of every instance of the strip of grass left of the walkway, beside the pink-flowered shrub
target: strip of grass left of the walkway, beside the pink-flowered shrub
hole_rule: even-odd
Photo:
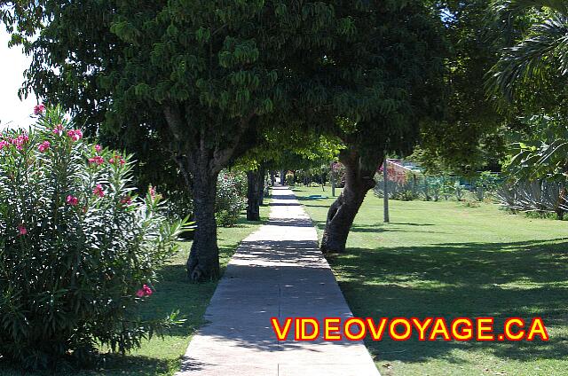
[[[268,212],[269,207],[267,205],[261,207],[263,220],[268,217]],[[225,270],[226,264],[241,240],[255,231],[260,224],[258,222],[247,222],[243,214],[236,226],[218,230],[217,238],[223,270]],[[155,337],[151,341],[146,341],[141,349],[127,356],[111,356],[108,364],[97,371],[74,371],[59,374],[66,376],[165,376],[177,372],[181,356],[185,354],[185,349],[195,330],[203,324],[203,313],[217,287],[217,281],[194,284],[187,279],[185,261],[187,255],[189,255],[190,246],[191,242],[184,242],[182,251],[160,270],[162,280],[155,286],[154,294],[145,302],[141,312],[143,317],[165,317],[170,312],[179,310],[180,317],[186,319],[183,326],[173,330],[163,340]],[[2,376],[43,376],[51,374],[51,372],[23,373],[3,368],[0,365],[0,375]]]

